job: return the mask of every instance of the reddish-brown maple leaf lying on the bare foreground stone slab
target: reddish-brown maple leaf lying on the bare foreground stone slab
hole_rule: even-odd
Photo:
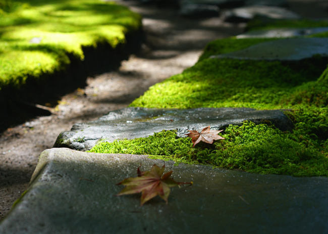
[[[117,184],[126,186],[120,193],[117,194],[117,196],[142,193],[140,206],[157,195],[168,203],[170,188],[180,184],[192,184],[192,182],[185,183],[174,181],[170,178],[173,171],[171,170],[163,174],[164,168],[165,165],[159,168],[159,166],[154,164],[151,171],[140,171],[138,167],[138,177],[125,179]]]

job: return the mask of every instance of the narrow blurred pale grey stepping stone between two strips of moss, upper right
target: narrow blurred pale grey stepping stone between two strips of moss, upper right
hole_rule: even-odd
[[[243,38],[283,38],[307,36],[321,32],[327,32],[328,27],[321,28],[279,28],[269,30],[254,30],[238,35],[237,39]]]

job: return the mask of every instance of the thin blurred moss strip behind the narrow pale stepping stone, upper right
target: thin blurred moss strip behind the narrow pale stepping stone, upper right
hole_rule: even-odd
[[[328,27],[326,20],[279,20],[270,19],[266,17],[255,17],[249,21],[246,26],[247,31],[261,30],[261,29],[275,29],[275,28],[314,28],[314,27]]]

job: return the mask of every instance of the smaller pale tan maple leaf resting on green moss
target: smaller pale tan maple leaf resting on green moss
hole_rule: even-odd
[[[193,147],[199,143],[200,141],[212,144],[213,140],[220,140],[225,139],[219,135],[218,133],[222,132],[223,130],[210,130],[210,126],[204,128],[201,133],[197,132],[196,130],[188,130],[190,133],[186,134],[188,137],[191,138]]]

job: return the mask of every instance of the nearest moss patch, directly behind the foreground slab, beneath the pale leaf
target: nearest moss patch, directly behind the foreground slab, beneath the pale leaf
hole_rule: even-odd
[[[304,141],[300,135],[245,122],[241,127],[229,126],[222,136],[225,140],[213,145],[201,142],[193,148],[191,138],[177,138],[175,131],[162,131],[147,138],[101,142],[89,152],[147,154],[256,173],[328,175],[328,154],[318,151],[315,142]]]

